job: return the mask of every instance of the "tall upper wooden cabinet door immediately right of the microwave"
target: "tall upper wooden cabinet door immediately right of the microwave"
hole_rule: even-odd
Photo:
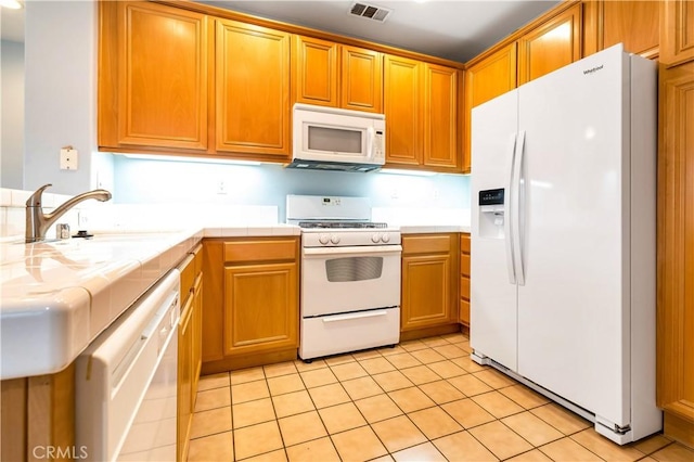
[[[420,165],[422,157],[422,63],[385,56],[386,162]]]

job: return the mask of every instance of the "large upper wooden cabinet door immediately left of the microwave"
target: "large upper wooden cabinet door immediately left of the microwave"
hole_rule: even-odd
[[[286,157],[290,145],[290,35],[217,22],[217,150]]]

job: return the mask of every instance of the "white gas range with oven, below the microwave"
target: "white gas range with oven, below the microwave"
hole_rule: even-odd
[[[305,361],[400,339],[400,230],[371,219],[365,197],[287,196],[301,227]]]

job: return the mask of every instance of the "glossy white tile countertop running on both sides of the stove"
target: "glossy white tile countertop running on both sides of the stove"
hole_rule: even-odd
[[[470,232],[402,226],[402,233]],[[295,226],[209,227],[0,243],[0,380],[67,367],[203,238],[300,235]]]

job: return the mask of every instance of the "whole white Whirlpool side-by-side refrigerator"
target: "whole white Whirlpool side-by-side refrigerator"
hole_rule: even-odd
[[[618,44],[472,113],[473,359],[618,444],[661,428],[656,98]]]

